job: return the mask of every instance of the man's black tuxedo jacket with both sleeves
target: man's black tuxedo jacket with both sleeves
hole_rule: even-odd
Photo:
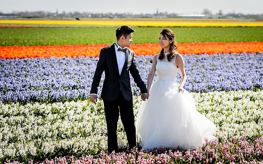
[[[101,75],[105,71],[105,79],[102,86],[101,98],[105,100],[116,100],[119,91],[126,100],[132,100],[132,89],[130,84],[130,74],[134,79],[134,82],[140,88],[141,93],[147,93],[147,88],[141,80],[139,71],[136,68],[135,53],[131,49],[127,48],[126,59],[122,68],[121,74],[119,74],[117,57],[115,52],[115,43],[108,47],[104,47],[100,50],[100,56],[97,63],[97,67],[94,73],[93,81],[91,84],[91,94],[98,93],[98,86],[100,83]]]

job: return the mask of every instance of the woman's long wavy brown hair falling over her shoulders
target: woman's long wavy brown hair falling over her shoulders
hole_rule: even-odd
[[[170,53],[167,55],[167,59],[168,61],[170,61],[174,56],[175,56],[175,53],[174,53],[174,50],[177,49],[177,43],[175,41],[175,35],[174,35],[174,32],[172,32],[172,30],[170,29],[163,29],[163,31],[160,33],[160,35],[163,35],[163,37],[166,38],[166,36],[169,38],[169,40],[173,40],[172,43],[170,44]],[[164,54],[164,49],[162,48],[161,50],[161,55],[159,56],[159,59],[162,60],[164,57],[165,57],[165,54]]]

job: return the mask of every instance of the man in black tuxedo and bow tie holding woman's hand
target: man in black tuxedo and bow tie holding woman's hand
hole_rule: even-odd
[[[113,150],[118,152],[116,130],[119,113],[127,135],[129,148],[131,149],[136,146],[136,132],[132,103],[133,94],[129,71],[134,82],[141,90],[141,98],[143,101],[148,98],[147,88],[141,80],[139,71],[134,63],[135,53],[129,48],[126,48],[130,47],[132,44],[132,32],[135,32],[135,30],[130,26],[120,26],[117,28],[117,42],[100,50],[99,60],[91,85],[90,99],[96,104],[101,74],[105,71],[101,98],[104,102],[109,153]]]

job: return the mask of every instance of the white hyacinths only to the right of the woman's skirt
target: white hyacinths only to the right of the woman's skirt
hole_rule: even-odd
[[[219,128],[218,136],[263,135],[263,90],[191,94],[196,100],[196,109]]]

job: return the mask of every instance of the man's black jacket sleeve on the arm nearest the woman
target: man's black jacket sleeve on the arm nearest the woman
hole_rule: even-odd
[[[140,88],[141,94],[147,93],[146,85],[144,84],[143,80],[141,80],[139,70],[137,69],[137,66],[135,65],[135,54],[134,54],[134,52],[133,52],[133,57],[132,57],[132,65],[130,66],[130,73],[134,79],[134,82],[137,84],[137,87]]]

